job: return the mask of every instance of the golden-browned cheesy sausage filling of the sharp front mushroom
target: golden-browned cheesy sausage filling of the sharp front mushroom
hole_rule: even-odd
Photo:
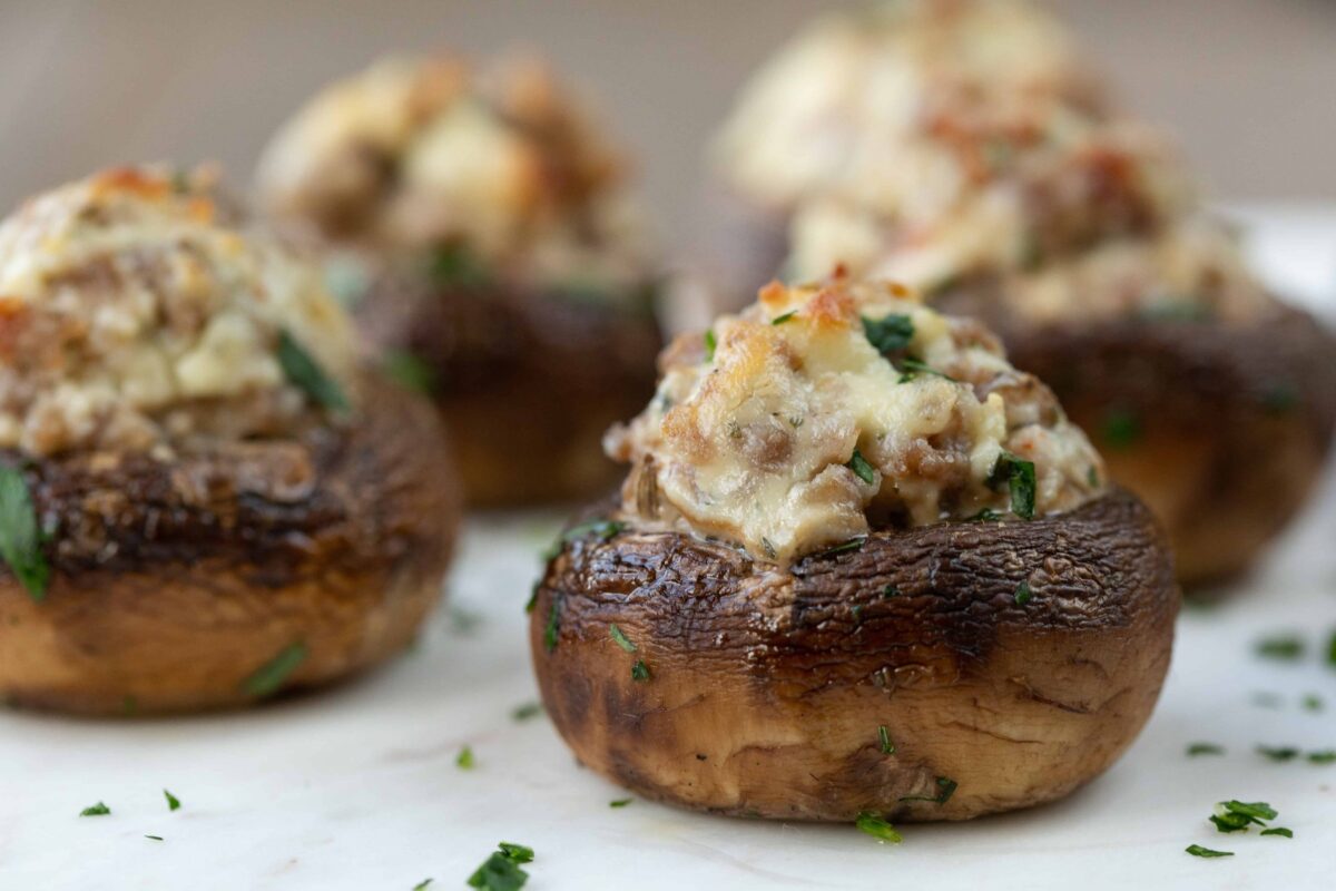
[[[895,315],[911,337],[883,355],[864,326]],[[1035,514],[1102,492],[1098,454],[1049,389],[981,326],[898,286],[770,285],[705,341],[680,337],[661,366],[655,399],[605,441],[633,464],[624,508],[758,558],[1005,513],[1003,456],[1034,464]]]

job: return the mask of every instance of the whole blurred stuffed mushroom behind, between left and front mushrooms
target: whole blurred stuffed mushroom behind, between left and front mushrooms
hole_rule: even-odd
[[[434,398],[478,506],[615,485],[597,442],[653,391],[660,347],[623,179],[544,67],[452,57],[327,88],[259,174],[275,218],[337,251],[386,366]]]

